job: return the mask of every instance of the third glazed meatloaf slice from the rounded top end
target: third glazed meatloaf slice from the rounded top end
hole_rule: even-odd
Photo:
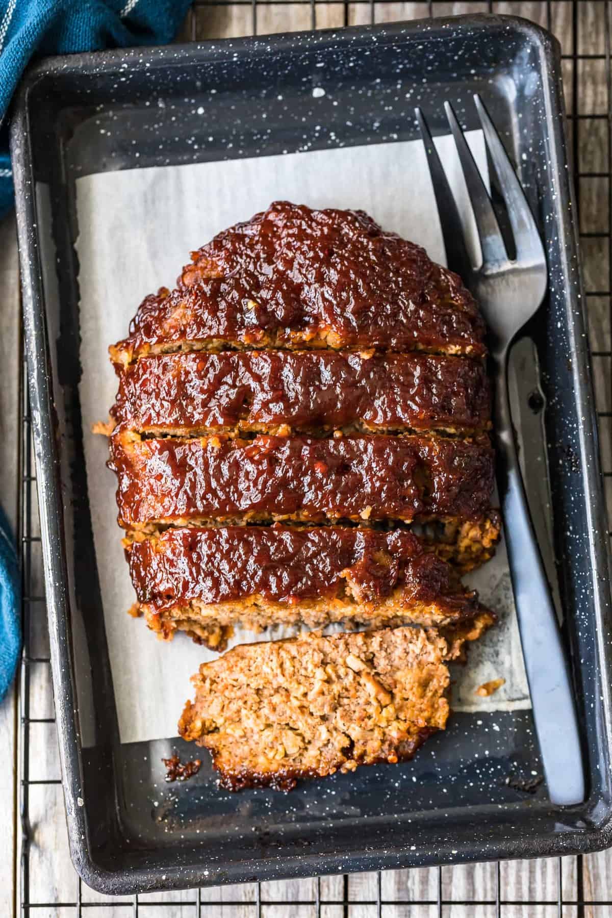
[[[487,437],[147,440],[117,431],[110,453],[119,521],[148,532],[211,521],[475,519],[495,475]]]

